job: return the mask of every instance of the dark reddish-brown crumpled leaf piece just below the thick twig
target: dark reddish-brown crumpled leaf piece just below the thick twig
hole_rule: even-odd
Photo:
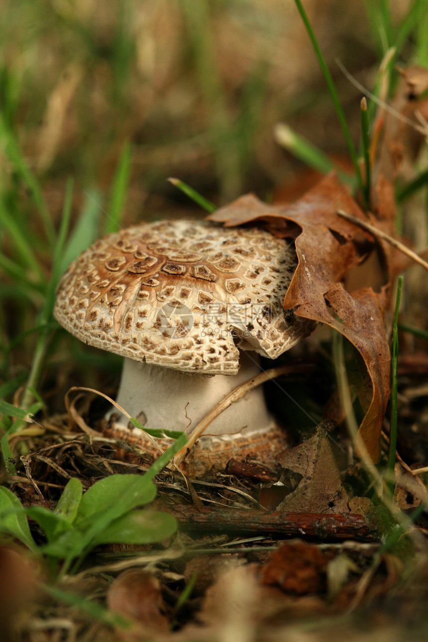
[[[262,567],[261,583],[295,595],[324,593],[326,568],[332,557],[331,552],[321,551],[314,544],[287,542]]]

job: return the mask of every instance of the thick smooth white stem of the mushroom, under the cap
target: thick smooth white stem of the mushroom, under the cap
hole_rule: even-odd
[[[254,353],[253,353],[254,354]],[[260,374],[257,362],[244,352],[234,376],[187,374],[178,370],[125,359],[117,403],[146,428],[183,430],[191,434],[201,420],[237,386]],[[110,411],[110,415],[114,411]],[[230,405],[210,423],[205,434],[239,436],[264,433],[275,426],[268,412],[262,388],[255,388]],[[124,415],[115,428],[132,429]]]

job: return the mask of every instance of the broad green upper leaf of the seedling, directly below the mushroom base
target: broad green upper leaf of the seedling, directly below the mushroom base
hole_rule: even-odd
[[[105,527],[132,508],[152,501],[155,496],[156,487],[146,474],[110,475],[85,492],[74,525],[86,530],[100,520]]]

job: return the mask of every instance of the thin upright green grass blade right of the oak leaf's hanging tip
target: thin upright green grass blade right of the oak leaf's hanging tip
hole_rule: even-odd
[[[386,486],[389,494],[394,491],[395,451],[397,450],[397,363],[398,363],[398,312],[400,310],[403,277],[400,275],[397,282],[397,297],[395,299],[394,321],[392,326],[391,345],[391,419],[389,421],[389,453],[386,467]]]

